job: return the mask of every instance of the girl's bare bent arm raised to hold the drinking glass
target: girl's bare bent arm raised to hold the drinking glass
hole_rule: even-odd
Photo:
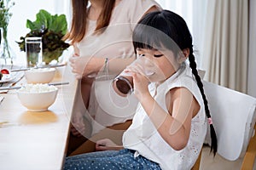
[[[182,150],[189,140],[191,119],[200,106],[187,88],[174,88],[166,96],[168,113],[148,92],[148,81],[142,75],[133,74],[135,95],[161,137],[175,150]]]

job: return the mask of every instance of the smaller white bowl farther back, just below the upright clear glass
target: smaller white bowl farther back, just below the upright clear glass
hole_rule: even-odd
[[[32,68],[25,71],[27,83],[48,83],[55,77],[55,68]]]

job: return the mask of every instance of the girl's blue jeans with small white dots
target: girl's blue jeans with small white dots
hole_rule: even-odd
[[[69,156],[64,165],[65,170],[80,169],[147,169],[160,170],[158,163],[143,156],[134,157],[134,150],[97,151],[78,156]]]

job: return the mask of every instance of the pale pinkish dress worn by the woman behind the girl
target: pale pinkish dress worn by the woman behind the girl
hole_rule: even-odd
[[[102,34],[91,34],[96,28],[96,20],[88,20],[86,37],[77,43],[79,55],[90,58],[102,57],[130,58],[134,56],[132,46],[132,31],[138,20],[149,8],[160,8],[154,0],[121,0],[113,8],[109,26]],[[112,73],[110,73],[112,74]],[[137,108],[137,99],[132,94],[128,98],[120,97],[112,89],[112,80],[96,81],[90,89],[90,104],[88,111],[94,119],[91,135],[98,133],[105,127],[131,120]]]

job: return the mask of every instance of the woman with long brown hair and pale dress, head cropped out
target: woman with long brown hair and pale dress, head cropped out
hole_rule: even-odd
[[[154,0],[70,1],[73,18],[71,29],[66,36],[74,48],[70,65],[73,73],[82,79],[79,80],[71,119],[68,155],[90,138],[90,135],[99,133],[102,128],[114,127],[119,123],[125,128],[127,123],[130,124],[136,111],[137,99],[131,101],[130,111],[127,110],[125,116],[120,117],[118,113],[122,110],[117,108],[113,110],[113,105],[109,102],[111,99],[107,94],[103,95],[102,100],[96,98],[96,73],[101,71],[107,62],[107,70],[113,75],[118,75],[125,66],[131,64],[135,59],[131,28],[143,14],[160,9],[160,5]],[[110,81],[101,81],[101,84],[104,88],[108,88],[108,82]],[[100,126],[95,127],[93,122],[97,122]],[[94,150],[94,147],[90,150]],[[82,150],[76,150],[79,151]]]

